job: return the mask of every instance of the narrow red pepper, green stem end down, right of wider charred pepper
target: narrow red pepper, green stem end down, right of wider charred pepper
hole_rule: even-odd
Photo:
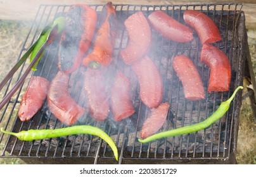
[[[93,52],[83,59],[85,66],[94,64],[94,67],[98,67],[97,64],[100,64],[106,67],[112,61],[112,52],[117,35],[117,16],[111,2],[104,6],[102,13],[104,19],[96,35]]]

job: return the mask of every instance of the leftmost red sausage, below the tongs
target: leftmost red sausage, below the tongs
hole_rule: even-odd
[[[28,121],[44,104],[48,92],[49,81],[41,76],[32,76],[22,102],[18,109],[18,117],[21,121]]]

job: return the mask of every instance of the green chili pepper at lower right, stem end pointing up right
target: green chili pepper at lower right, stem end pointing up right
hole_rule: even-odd
[[[215,123],[215,121],[222,118],[222,116],[224,116],[224,114],[229,109],[231,101],[234,99],[234,95],[236,94],[236,92],[238,92],[239,89],[243,89],[243,87],[240,86],[240,87],[236,88],[236,90],[234,90],[233,95],[231,95],[231,97],[229,99],[227,99],[227,101],[222,102],[221,105],[219,106],[219,108],[215,111],[215,113],[212,114],[212,116],[205,119],[204,121],[202,121],[200,123],[196,123],[195,125],[188,125],[188,126],[174,129],[174,130],[163,131],[163,132],[157,133],[155,135],[151,135],[150,137],[145,138],[144,140],[139,139],[139,142],[147,143],[147,142],[151,142],[153,140],[157,140],[159,138],[184,135],[184,134],[193,133],[195,131],[199,131],[199,130],[203,130],[203,129],[207,128],[208,126]]]

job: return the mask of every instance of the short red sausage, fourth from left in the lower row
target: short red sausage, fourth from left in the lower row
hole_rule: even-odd
[[[131,101],[131,83],[119,71],[111,90],[110,103],[115,121],[121,121],[135,112]]]

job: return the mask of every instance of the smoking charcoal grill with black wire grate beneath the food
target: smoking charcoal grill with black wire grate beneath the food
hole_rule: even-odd
[[[245,77],[245,61],[248,59],[248,44],[246,40],[245,15],[243,4],[189,4],[189,5],[131,5],[114,4],[118,23],[117,40],[113,51],[111,70],[120,70],[131,79],[132,102],[136,113],[120,122],[115,122],[112,114],[104,122],[94,121],[89,113],[80,118],[75,125],[93,125],[105,130],[118,147],[119,161],[115,161],[112,150],[100,138],[91,135],[70,135],[68,137],[35,140],[23,142],[10,135],[0,135],[0,144],[3,152],[0,157],[18,157],[30,164],[174,164],[174,163],[236,163],[235,151],[238,137],[238,119],[241,107],[241,92],[236,95],[229,111],[223,118],[205,130],[181,135],[177,137],[162,138],[151,143],[139,143],[140,130],[144,119],[150,113],[139,99],[139,85],[131,68],[126,66],[120,58],[120,51],[128,42],[124,20],[135,13],[143,11],[148,16],[152,11],[161,9],[181,23],[182,13],[186,9],[203,11],[219,27],[222,41],[214,46],[221,49],[229,58],[232,68],[231,85],[228,92],[208,93],[208,79],[210,70],[200,62],[202,44],[194,32],[194,39],[188,43],[179,43],[164,39],[162,35],[152,30],[152,45],[149,56],[163,76],[164,96],[163,102],[170,103],[170,110],[165,125],[159,131],[170,130],[181,126],[191,125],[206,119],[218,108],[222,101],[233,93],[239,85],[243,85]],[[103,4],[92,5],[98,16],[101,15]],[[65,14],[70,6],[42,4],[35,16],[34,23],[29,30],[20,56],[27,51],[39,35],[40,29],[54,20],[57,16]],[[203,80],[206,97],[202,101],[188,101],[184,99],[182,85],[172,68],[172,59],[178,54],[186,54],[193,60]],[[58,71],[58,37],[48,46],[37,66],[37,71],[31,75],[40,75],[51,80]],[[25,64],[18,70],[18,78],[25,70]],[[70,78],[70,94],[80,105],[84,105],[84,95],[81,92],[82,71],[76,71]],[[30,76],[31,76],[30,75]],[[13,95],[10,102],[1,110],[0,122],[9,131],[21,131],[42,128],[65,127],[53,114],[47,104],[35,114],[30,121],[21,122],[17,116],[17,109],[22,99],[22,91],[27,87],[30,79]],[[106,73],[106,84],[112,82],[111,74]],[[16,80],[6,84],[4,94]]]

